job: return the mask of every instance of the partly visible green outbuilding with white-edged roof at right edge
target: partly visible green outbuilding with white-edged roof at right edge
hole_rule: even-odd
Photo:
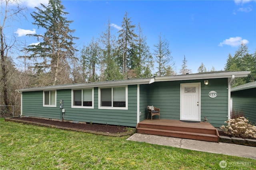
[[[241,113],[256,123],[256,81],[231,88],[233,113]]]

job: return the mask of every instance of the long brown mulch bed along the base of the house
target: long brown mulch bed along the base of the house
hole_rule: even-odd
[[[44,123],[48,125],[58,126],[58,127],[66,127],[66,128],[74,128],[81,129],[87,131],[97,131],[104,133],[126,133],[129,128],[124,126],[115,126],[115,125],[105,125],[105,124],[94,124],[94,123],[72,123],[70,121],[56,121],[51,119],[41,119],[35,117],[13,117],[12,119],[34,122],[34,123]]]

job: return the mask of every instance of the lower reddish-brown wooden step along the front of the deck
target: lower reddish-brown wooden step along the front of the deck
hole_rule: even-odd
[[[171,131],[171,130],[164,130],[164,129],[144,128],[144,127],[138,127],[137,133],[166,136],[166,137],[177,137],[177,138],[183,138],[183,139],[194,139],[198,141],[218,142],[217,135],[204,134],[204,133]]]

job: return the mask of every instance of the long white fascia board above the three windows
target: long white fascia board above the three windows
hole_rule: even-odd
[[[27,88],[16,90],[18,92],[33,92],[42,90],[62,90],[62,89],[81,89],[81,88],[94,88],[94,87],[114,87],[114,86],[127,86],[134,84],[150,84],[154,82],[154,78],[148,79],[129,79],[129,80],[117,80],[117,81],[106,81],[106,82],[93,82],[93,83],[82,83],[82,84],[69,84],[60,86],[46,86],[39,88]]]

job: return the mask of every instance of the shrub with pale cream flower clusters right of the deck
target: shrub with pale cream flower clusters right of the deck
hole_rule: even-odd
[[[227,123],[226,127],[224,125],[220,127],[224,133],[232,137],[256,139],[256,126],[248,123],[249,121],[244,117],[229,119],[224,122]]]

